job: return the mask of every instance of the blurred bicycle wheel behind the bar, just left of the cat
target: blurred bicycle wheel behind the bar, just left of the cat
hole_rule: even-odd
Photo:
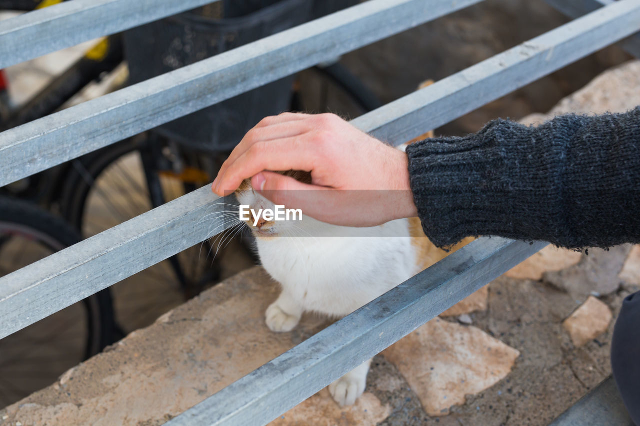
[[[149,138],[141,134],[72,162],[61,210],[84,237],[211,181],[202,164],[193,166],[195,156],[173,150],[166,141],[149,146]],[[113,285],[116,320],[125,333],[148,326],[218,282],[218,262],[212,262],[211,251],[215,249],[207,242],[197,244]]]

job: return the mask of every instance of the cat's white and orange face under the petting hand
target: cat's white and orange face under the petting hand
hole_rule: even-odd
[[[284,172],[278,172],[282,175],[292,177],[305,184],[311,183],[311,175],[306,171],[289,170]],[[250,228],[253,235],[260,239],[270,239],[279,235],[283,236],[296,236],[301,235],[304,231],[305,220],[312,220],[310,217],[306,217],[300,214],[301,220],[265,220],[264,217],[256,217],[254,212],[259,212],[260,209],[264,210],[276,210],[273,202],[269,201],[265,196],[255,191],[251,185],[250,179],[245,179],[242,184],[236,190],[236,198],[240,205],[248,205],[249,211],[245,217],[248,217],[248,221],[244,221]],[[289,216],[292,217],[292,216]]]

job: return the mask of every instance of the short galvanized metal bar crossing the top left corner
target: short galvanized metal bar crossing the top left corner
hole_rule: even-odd
[[[218,0],[73,0],[0,21],[0,68]]]

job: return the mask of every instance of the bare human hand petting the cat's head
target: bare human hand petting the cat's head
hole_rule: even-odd
[[[274,173],[286,170],[309,171],[311,184]],[[273,203],[335,225],[417,216],[406,154],[335,114],[264,118],[222,164],[212,191],[232,193],[246,178]]]

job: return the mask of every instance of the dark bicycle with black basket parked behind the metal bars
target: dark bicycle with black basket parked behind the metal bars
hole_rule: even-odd
[[[6,3],[26,0],[3,1]],[[289,8],[298,11],[298,6],[305,1],[288,0],[291,3]],[[239,18],[239,16],[246,16],[247,10],[241,10],[243,4],[250,3],[252,1],[244,3],[242,1],[218,2],[202,8],[200,14],[209,17],[209,19],[212,16],[221,17],[222,11],[218,6],[222,5],[227,8],[228,15],[232,16],[230,24],[221,22],[222,28],[227,31],[236,31],[239,24],[248,22],[246,28],[250,33],[253,30],[249,24],[252,22],[252,16],[255,15]],[[277,2],[272,1],[271,3]],[[313,3],[306,1],[306,3],[312,4],[316,9],[312,11],[312,14],[319,15],[333,12],[340,6],[344,7],[357,3],[357,1],[338,0]],[[298,20],[302,21],[298,17],[290,24],[297,24]],[[182,14],[164,21],[177,22],[178,28],[186,25],[202,26],[206,23],[200,17],[193,17],[193,13],[191,16]],[[148,26],[154,25],[157,24],[147,24],[143,27],[148,28]],[[282,22],[278,21],[278,25],[282,26]],[[140,29],[132,31],[138,31],[136,35],[140,38]],[[163,27],[161,31],[166,33],[166,28]],[[223,37],[224,40],[232,39],[233,43],[228,42],[228,45],[219,46],[221,50],[228,50],[239,43],[239,36],[236,36],[236,33],[233,34],[234,37]],[[263,35],[262,33],[249,34],[243,39],[243,42],[249,42],[252,38],[259,38]],[[125,35],[125,41],[126,37]],[[123,36],[109,36],[105,40],[106,42],[104,40],[100,42],[103,43],[101,50],[97,47],[92,49],[94,52],[102,52],[102,56],[88,54],[79,59],[67,72],[56,77],[28,104],[19,111],[13,111],[10,119],[5,123],[5,127],[19,125],[55,111],[77,93],[83,84],[115,69],[124,59]],[[158,43],[157,37],[152,37],[152,43],[154,44],[151,46]],[[150,50],[148,46],[147,49],[142,49],[143,52]],[[131,52],[131,46],[129,46],[129,51]],[[207,53],[214,54],[216,52],[209,51]],[[187,65],[197,59],[202,59],[196,58],[196,53],[197,49],[191,51],[191,54],[186,55],[187,57],[179,65]],[[100,60],[97,61],[97,58]],[[133,81],[141,81],[152,76],[151,74],[135,75],[136,72],[140,74],[141,68],[136,68],[135,64],[132,65],[131,58],[129,59],[129,69],[134,74]],[[173,67],[169,68],[173,69]],[[169,69],[152,71],[160,74],[167,70]],[[278,106],[268,111],[255,113],[255,117],[258,118],[254,117],[253,120],[257,121],[261,116],[287,109],[294,111],[311,109],[317,112],[330,110],[355,116],[381,105],[371,91],[338,61],[319,65],[310,72],[320,76],[315,77],[317,84],[314,86],[314,90],[317,89],[324,93],[319,97],[321,102],[309,106],[308,95],[305,92],[308,91],[308,88],[301,85],[298,80],[291,78],[285,83],[276,82],[280,86],[275,91],[280,98],[282,98],[282,93],[290,93],[290,95],[282,98],[282,102]],[[351,104],[349,111],[340,111],[335,104],[331,104],[330,93],[341,93],[342,98],[348,98]],[[271,98],[273,95],[266,97],[268,100]],[[218,111],[227,113],[236,109],[240,114],[244,114],[245,109],[242,104],[229,104],[228,102],[234,102],[234,100],[222,102],[223,106],[219,105],[218,107],[221,109]],[[31,177],[26,185],[22,185],[19,192],[13,194],[31,198],[60,212],[84,237],[118,225],[131,217],[170,201],[176,196],[211,182],[223,159],[237,143],[241,134],[248,130],[247,126],[250,127],[250,120],[245,120],[242,125],[237,126],[234,134],[220,134],[214,129],[200,132],[200,135],[202,133],[214,135],[216,143],[211,148],[211,143],[207,145],[207,143],[198,142],[200,135],[180,134],[184,133],[184,129],[195,129],[198,123],[211,122],[211,113],[209,113],[209,118],[206,115],[205,120],[202,118],[202,113],[207,114],[206,111],[207,109],[191,114],[191,117],[196,116],[195,121],[186,121],[190,120],[188,116],[180,119],[182,121],[177,120],[181,124],[168,123],[168,125],[125,139],[125,141],[120,141],[58,166],[55,168],[56,170]],[[200,114],[200,118],[198,118],[198,114]],[[172,308],[185,298],[194,296],[223,278],[220,258],[224,257],[225,253],[216,256],[215,262],[211,262],[205,256],[209,252],[216,253],[218,251],[217,244],[218,242],[215,241],[205,242],[202,247],[196,246],[189,251],[172,256],[165,262],[140,272],[135,278],[129,278],[113,286],[116,317],[118,317],[118,323],[122,324],[124,333],[150,324],[156,319],[157,312],[164,312]],[[255,261],[255,258],[250,257],[250,259]],[[225,264],[228,263],[225,262]],[[247,265],[247,262],[241,263],[241,265]],[[140,280],[154,281],[160,289],[149,291],[146,288],[141,289],[140,285],[133,284]],[[140,294],[132,294],[138,290],[140,290]],[[134,300],[138,302],[131,303]]]

